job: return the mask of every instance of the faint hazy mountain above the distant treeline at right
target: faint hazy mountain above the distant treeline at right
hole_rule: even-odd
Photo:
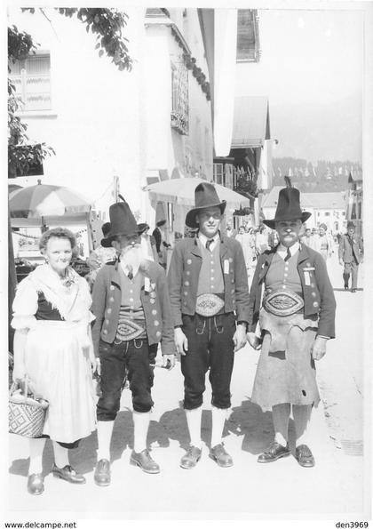
[[[271,137],[276,156],[361,163],[361,96],[331,104],[270,102]]]

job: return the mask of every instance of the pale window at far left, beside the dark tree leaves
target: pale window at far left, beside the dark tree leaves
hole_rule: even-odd
[[[11,65],[11,79],[23,111],[51,110],[51,58],[33,55]]]

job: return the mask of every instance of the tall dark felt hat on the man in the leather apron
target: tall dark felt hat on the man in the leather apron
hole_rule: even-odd
[[[279,199],[277,202],[277,209],[274,219],[263,219],[263,224],[268,228],[274,229],[275,223],[281,220],[297,220],[306,222],[311,217],[310,212],[302,212],[300,208],[300,193],[299,189],[293,188],[289,176],[285,176],[286,188],[280,189]]]

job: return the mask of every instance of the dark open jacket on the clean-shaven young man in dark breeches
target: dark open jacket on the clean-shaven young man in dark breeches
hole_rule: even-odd
[[[220,236],[219,260],[224,279],[224,311],[235,311],[238,321],[248,322],[248,275],[241,244],[231,237]],[[167,277],[175,326],[183,325],[182,314],[195,314],[201,267],[202,253],[197,238],[179,241],[172,252]]]

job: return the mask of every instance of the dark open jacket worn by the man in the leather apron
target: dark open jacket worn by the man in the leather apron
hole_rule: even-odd
[[[249,331],[255,332],[261,308],[262,291],[277,246],[267,250],[258,258],[258,265],[250,288],[250,319]],[[335,337],[336,300],[330,284],[325,261],[319,252],[315,252],[306,244],[300,244],[297,263],[300,283],[305,302],[305,317],[319,318],[318,334]]]

